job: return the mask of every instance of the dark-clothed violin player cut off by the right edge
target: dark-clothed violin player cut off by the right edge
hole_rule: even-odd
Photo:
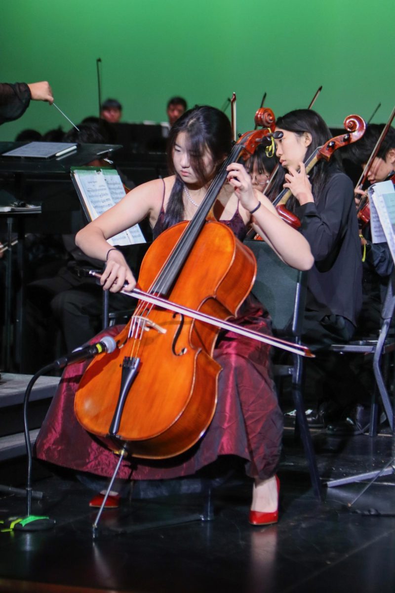
[[[348,147],[348,157],[362,169],[370,159],[384,126],[371,124],[364,136]],[[394,170],[395,130],[390,127],[368,171],[368,181],[370,184],[386,181],[394,176]],[[357,188],[355,193],[357,204],[361,196],[365,199],[367,197],[364,189]],[[377,336],[380,329],[383,298],[394,262],[387,243],[372,243],[370,221],[365,216],[362,218],[359,221],[363,262],[362,310],[358,317],[358,332],[366,337]],[[371,356],[354,355],[348,356],[348,359],[358,398],[340,422],[333,422],[327,427],[328,432],[337,435],[362,434],[370,423],[371,392],[375,384]]]

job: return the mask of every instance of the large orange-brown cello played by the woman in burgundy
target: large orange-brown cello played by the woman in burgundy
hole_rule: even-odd
[[[271,131],[274,116],[268,111],[268,117],[261,114],[268,127],[245,133],[233,146],[194,218],[153,242],[139,290],[222,320],[237,314],[255,279],[255,257],[226,225],[207,217],[227,166],[248,158]],[[115,338],[117,349],[97,356],[86,369],[75,414],[86,431],[122,455],[174,457],[201,438],[214,415],[221,367],[212,354],[219,329],[140,297],[130,323]]]

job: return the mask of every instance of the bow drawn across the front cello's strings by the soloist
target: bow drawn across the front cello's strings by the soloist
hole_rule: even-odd
[[[101,275],[94,270],[84,269],[84,273],[88,273],[89,276],[94,276],[94,278],[101,278]],[[275,346],[281,348],[282,350],[292,352],[293,354],[306,356],[307,358],[314,358],[314,354],[310,352],[309,348],[306,346],[302,346],[293,342],[287,342],[287,340],[281,340],[280,338],[274,336],[268,336],[266,334],[259,333],[258,331],[248,330],[246,327],[238,326],[236,323],[231,323],[230,321],[224,321],[223,319],[219,319],[205,313],[200,313],[200,311],[195,311],[189,307],[184,307],[184,305],[179,305],[178,303],[168,301],[168,299],[158,297],[158,295],[149,294],[148,292],[144,292],[139,288],[134,288],[133,291],[130,292],[121,290],[120,294],[127,295],[127,297],[137,298],[139,301],[156,305],[156,307],[162,307],[169,311],[173,311],[174,313],[179,313],[180,315],[192,317],[198,321],[208,323],[211,326],[221,327],[221,329],[233,331],[237,334],[240,334],[241,336],[258,340],[258,342],[264,342],[269,346]]]

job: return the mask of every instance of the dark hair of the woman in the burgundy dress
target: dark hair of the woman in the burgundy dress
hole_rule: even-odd
[[[203,186],[211,180],[211,178],[207,178],[203,166],[205,150],[210,151],[213,162],[217,164],[214,170],[215,176],[232,148],[232,128],[229,119],[223,111],[207,105],[185,111],[169,132],[167,154],[168,168],[172,174],[175,173],[173,151],[180,132],[187,133],[187,150],[190,155],[191,167],[199,183]],[[175,184],[163,219],[163,229],[171,227],[184,218],[184,202],[182,200],[184,183],[176,173],[175,175]]]

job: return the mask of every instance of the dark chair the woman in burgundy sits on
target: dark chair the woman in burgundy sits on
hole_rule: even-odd
[[[252,293],[269,311],[274,334],[300,343],[306,300],[307,272],[300,272],[282,262],[264,241],[245,241],[245,245],[251,248],[258,263],[258,272]],[[322,484],[303,403],[303,357],[295,354],[292,357],[292,365],[274,365],[274,374],[280,377],[292,375],[292,396],[300,437],[309,466],[311,484],[314,495],[322,500]]]

